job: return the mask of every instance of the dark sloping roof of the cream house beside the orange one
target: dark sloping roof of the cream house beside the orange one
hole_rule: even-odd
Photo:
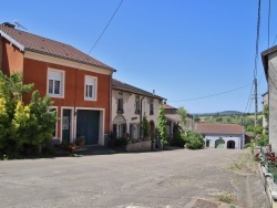
[[[126,84],[124,82],[117,81],[117,80],[112,80],[112,87],[120,90],[120,91],[125,91],[125,92],[130,92],[130,93],[135,93],[138,95],[144,95],[144,96],[148,96],[148,97],[153,97],[153,98],[162,98],[164,100],[164,97],[161,97],[158,95],[155,95],[153,93],[150,93],[147,91],[144,91],[142,89],[137,89],[135,86],[132,86],[130,84]]]

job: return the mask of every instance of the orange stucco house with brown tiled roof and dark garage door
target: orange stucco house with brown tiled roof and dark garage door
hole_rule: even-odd
[[[105,144],[114,69],[69,44],[2,23],[0,71],[7,75],[21,72],[24,83],[34,83],[41,96],[48,94],[54,101],[51,111],[60,117],[54,143],[73,143],[78,136],[85,136],[86,145]]]

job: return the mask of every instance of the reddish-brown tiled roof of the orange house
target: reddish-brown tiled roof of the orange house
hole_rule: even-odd
[[[31,34],[25,31],[14,29],[10,23],[0,24],[0,37],[9,40],[21,51],[32,51],[45,55],[57,56],[82,64],[93,65],[111,71],[115,71],[111,66],[98,61],[94,58],[81,52],[80,50],[51,39]]]

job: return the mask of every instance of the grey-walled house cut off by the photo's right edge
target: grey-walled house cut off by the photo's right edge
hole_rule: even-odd
[[[277,153],[277,45],[261,52],[268,84],[268,135],[271,150]]]

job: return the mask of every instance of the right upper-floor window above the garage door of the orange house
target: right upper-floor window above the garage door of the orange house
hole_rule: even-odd
[[[84,100],[96,101],[98,79],[85,75],[84,81]]]

